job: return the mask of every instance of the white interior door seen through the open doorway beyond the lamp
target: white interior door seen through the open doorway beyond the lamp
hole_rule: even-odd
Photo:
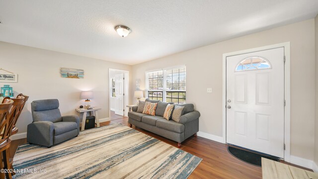
[[[115,114],[124,115],[124,74],[115,76]]]

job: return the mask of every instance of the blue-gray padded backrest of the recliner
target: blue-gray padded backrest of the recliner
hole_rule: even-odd
[[[61,122],[62,116],[58,99],[42,99],[31,102],[33,122],[51,121]]]

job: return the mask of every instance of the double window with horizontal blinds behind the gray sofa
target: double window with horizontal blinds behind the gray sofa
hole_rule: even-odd
[[[186,67],[146,73],[148,98],[164,102],[185,103]]]

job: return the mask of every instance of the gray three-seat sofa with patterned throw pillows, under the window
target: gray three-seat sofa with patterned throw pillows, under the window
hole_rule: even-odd
[[[130,127],[135,125],[143,128],[162,137],[168,138],[178,142],[178,147],[181,147],[183,142],[188,137],[195,135],[199,131],[199,117],[200,112],[194,110],[193,104],[176,104],[184,106],[183,115],[181,115],[180,122],[164,119],[163,113],[167,102],[160,102],[159,100],[146,99],[149,102],[158,102],[156,115],[148,115],[136,112],[138,106],[132,107],[132,111],[128,112],[128,123]],[[173,104],[173,103],[170,103]]]

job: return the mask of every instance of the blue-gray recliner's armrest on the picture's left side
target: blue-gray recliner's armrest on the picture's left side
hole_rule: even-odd
[[[27,127],[27,142],[50,147],[54,143],[54,124],[51,121],[37,121]]]

